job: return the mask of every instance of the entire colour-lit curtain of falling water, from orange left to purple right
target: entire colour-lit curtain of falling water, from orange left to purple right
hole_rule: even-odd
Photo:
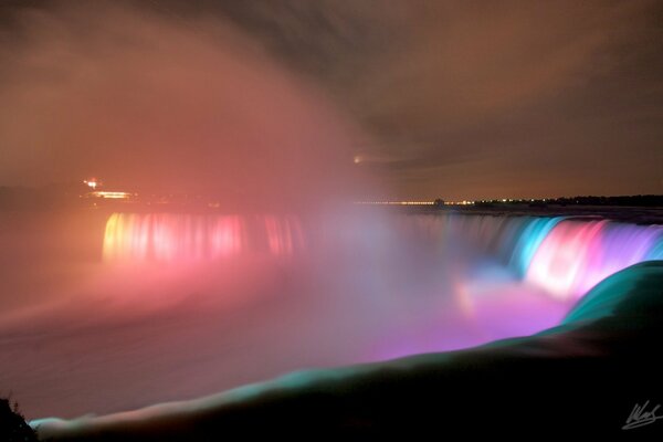
[[[389,224],[393,236],[414,232],[452,256],[471,249],[561,301],[579,298],[624,267],[663,259],[662,225],[547,217],[394,218],[398,222]],[[378,229],[365,224],[355,232],[350,248],[359,246],[358,238],[370,239]],[[357,229],[356,223],[351,225]],[[241,253],[293,255],[311,245],[307,233],[296,217],[115,213],[106,224],[104,260],[181,262]],[[337,246],[339,236],[329,238],[316,246]],[[360,246],[379,248],[379,241],[362,241]]]

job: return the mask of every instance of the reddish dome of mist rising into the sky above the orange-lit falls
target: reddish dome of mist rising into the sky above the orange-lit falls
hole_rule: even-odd
[[[352,158],[367,135],[220,18],[56,2],[18,10],[9,29],[4,183],[102,177],[116,189],[202,193],[233,208],[311,207],[358,190]]]

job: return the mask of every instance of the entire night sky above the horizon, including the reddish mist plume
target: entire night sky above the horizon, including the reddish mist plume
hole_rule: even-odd
[[[0,185],[663,192],[660,1],[0,4]]]

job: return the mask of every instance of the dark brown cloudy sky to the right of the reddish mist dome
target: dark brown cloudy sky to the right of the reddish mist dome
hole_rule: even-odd
[[[522,194],[523,166],[538,177],[536,196],[661,190],[646,166],[660,162],[663,135],[654,2],[386,4],[215,11],[333,91],[377,138],[360,154],[380,158],[403,194]],[[623,120],[642,113],[650,119]],[[633,131],[651,139],[632,143]],[[597,159],[608,170],[592,175]],[[567,172],[577,168],[583,173]],[[606,186],[606,175],[621,185]]]

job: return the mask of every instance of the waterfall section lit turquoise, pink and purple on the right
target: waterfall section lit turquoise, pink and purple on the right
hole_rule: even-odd
[[[663,225],[561,217],[414,215],[417,229],[454,252],[472,248],[518,278],[573,301],[630,265],[663,260]]]

